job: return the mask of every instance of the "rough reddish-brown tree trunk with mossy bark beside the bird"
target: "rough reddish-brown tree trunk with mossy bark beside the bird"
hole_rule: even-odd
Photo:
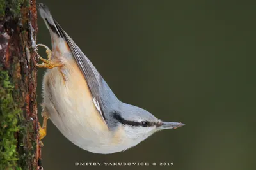
[[[0,0],[0,169],[40,169],[35,0]]]

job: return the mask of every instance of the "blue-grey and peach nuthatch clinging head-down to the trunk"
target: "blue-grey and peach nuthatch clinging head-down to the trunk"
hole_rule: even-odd
[[[38,67],[47,72],[43,81],[40,139],[46,135],[51,118],[72,143],[93,153],[115,153],[137,145],[161,129],[184,124],[163,122],[142,108],[119,101],[106,81],[80,48],[60,27],[45,6],[38,10],[51,34],[52,51]]]

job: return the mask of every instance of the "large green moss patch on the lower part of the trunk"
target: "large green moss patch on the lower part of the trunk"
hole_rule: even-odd
[[[8,72],[0,71],[0,169],[18,167],[17,139],[13,134],[20,130],[18,121],[22,110],[13,101],[13,89]]]

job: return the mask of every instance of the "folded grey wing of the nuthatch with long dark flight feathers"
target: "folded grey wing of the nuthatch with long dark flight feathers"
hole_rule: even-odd
[[[76,59],[77,65],[81,69],[81,72],[84,75],[88,83],[88,87],[93,97],[93,103],[95,107],[99,111],[101,117],[103,118],[104,122],[106,123],[106,117],[104,115],[104,111],[102,110],[102,100],[100,99],[100,92],[99,88],[101,85],[101,79],[99,72],[93,66],[92,62],[84,55],[84,53],[80,50],[80,48],[76,45],[76,43],[68,36],[68,34],[60,27],[60,24],[54,20],[54,24],[56,24],[56,28],[58,29],[58,33],[61,37],[65,38],[67,44]]]

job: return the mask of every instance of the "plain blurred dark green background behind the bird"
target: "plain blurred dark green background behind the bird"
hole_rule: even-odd
[[[45,170],[116,169],[75,162],[173,162],[118,167],[123,169],[256,169],[256,1],[37,3],[49,6],[120,100],[186,124],[125,152],[99,155],[73,145],[49,121]],[[37,42],[51,46],[39,17],[38,25]],[[40,54],[46,57],[42,48]],[[38,104],[44,71],[38,70]]]

